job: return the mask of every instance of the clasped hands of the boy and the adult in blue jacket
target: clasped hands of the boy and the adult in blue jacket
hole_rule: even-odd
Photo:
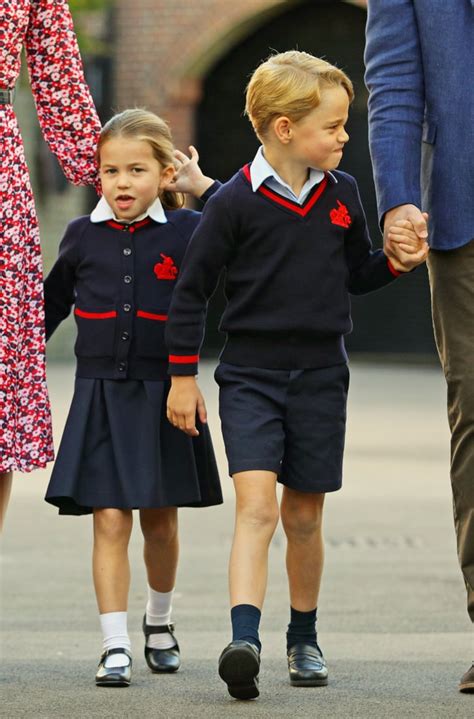
[[[400,209],[410,207],[395,208],[385,216],[384,252],[399,272],[409,272],[422,264],[429,253],[426,241],[428,215],[419,210],[418,215],[410,215],[408,210],[400,213]]]

